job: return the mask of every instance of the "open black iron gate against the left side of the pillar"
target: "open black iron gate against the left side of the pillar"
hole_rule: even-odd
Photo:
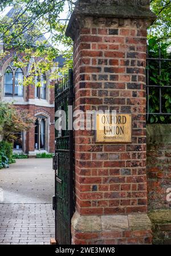
[[[55,129],[55,156],[53,168],[55,170],[55,196],[53,209],[55,210],[55,239],[59,245],[71,244],[71,218],[74,213],[74,181],[73,181],[73,131],[68,127],[73,105],[73,71],[64,76],[55,85],[55,113],[63,110],[66,113],[66,129]],[[58,117],[56,118],[56,120]],[[55,120],[55,121],[56,121]]]

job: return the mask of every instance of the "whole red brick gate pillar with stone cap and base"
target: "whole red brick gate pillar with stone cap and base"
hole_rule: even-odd
[[[151,243],[145,59],[153,19],[148,0],[82,0],[72,13],[75,109],[116,109],[133,119],[129,144],[96,144],[93,131],[75,131],[74,244]]]

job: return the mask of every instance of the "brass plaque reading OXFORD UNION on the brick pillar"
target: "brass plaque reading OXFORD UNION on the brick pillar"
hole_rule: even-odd
[[[131,114],[97,114],[96,143],[131,143]]]

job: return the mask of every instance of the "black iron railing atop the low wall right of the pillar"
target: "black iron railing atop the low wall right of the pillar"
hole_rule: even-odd
[[[153,51],[147,52],[147,123],[160,123],[160,121],[161,123],[171,123],[171,58],[165,57],[162,55],[161,48],[158,48],[157,53]]]

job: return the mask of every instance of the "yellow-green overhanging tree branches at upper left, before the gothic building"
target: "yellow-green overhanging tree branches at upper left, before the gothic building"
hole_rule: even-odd
[[[35,62],[30,69],[30,75],[25,79],[24,85],[35,83],[34,75],[51,71],[52,62],[56,56],[66,58],[66,69],[71,67],[72,40],[64,33],[70,18],[74,1],[70,0],[0,0],[0,8],[13,6],[13,17],[0,18],[0,35],[5,46],[3,58],[10,48],[16,49],[14,56],[16,66],[28,66],[30,60],[44,58],[46,62]],[[67,14],[66,14],[67,13]],[[43,38],[42,35],[46,35]],[[61,50],[63,45],[63,50]],[[24,63],[20,63],[17,56],[24,52]],[[57,78],[58,72],[52,74]],[[39,86],[39,84],[36,84]]]

